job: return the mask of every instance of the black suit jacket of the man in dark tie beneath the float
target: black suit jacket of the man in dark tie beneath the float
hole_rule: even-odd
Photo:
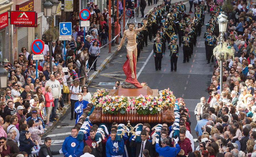
[[[135,140],[131,140],[130,147],[136,147],[136,157],[140,157],[139,154],[141,153],[141,142],[137,143]],[[150,156],[154,156],[155,148],[150,141],[146,140],[144,149],[149,151]]]

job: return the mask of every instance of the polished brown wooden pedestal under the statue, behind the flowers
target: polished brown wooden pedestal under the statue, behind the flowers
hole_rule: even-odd
[[[123,88],[123,85],[117,89],[109,91],[109,96],[129,96],[136,97],[142,94],[143,96],[151,95],[153,97],[158,96],[158,89],[151,89],[149,86],[142,86],[142,88]]]

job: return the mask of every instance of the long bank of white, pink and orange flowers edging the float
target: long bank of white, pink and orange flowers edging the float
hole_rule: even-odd
[[[103,113],[124,114],[129,111],[136,111],[138,114],[159,113],[164,106],[173,107],[175,105],[175,96],[173,92],[164,89],[158,92],[158,97],[150,95],[137,97],[109,96],[108,90],[97,90],[93,94],[92,103],[95,107],[100,107]]]

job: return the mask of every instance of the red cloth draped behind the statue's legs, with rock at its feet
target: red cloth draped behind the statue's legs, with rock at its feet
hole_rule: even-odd
[[[128,55],[127,55],[128,58]],[[136,63],[135,63],[135,57],[133,54],[133,71],[135,74],[135,78],[131,77],[131,68],[130,68],[130,61],[129,58],[125,61],[125,63],[123,64],[123,72],[125,73],[126,76],[126,84],[124,88],[142,88],[141,84],[138,82],[137,80],[137,76],[136,76]]]

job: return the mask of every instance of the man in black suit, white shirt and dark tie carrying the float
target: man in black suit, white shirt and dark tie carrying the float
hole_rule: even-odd
[[[139,132],[136,131],[138,134]],[[148,141],[148,131],[147,130],[142,130],[141,131],[141,142],[135,142],[135,136],[131,140],[130,147],[136,147],[136,157],[142,157],[142,151],[144,149],[147,149],[149,151],[150,156],[154,156],[154,146],[150,141]]]

